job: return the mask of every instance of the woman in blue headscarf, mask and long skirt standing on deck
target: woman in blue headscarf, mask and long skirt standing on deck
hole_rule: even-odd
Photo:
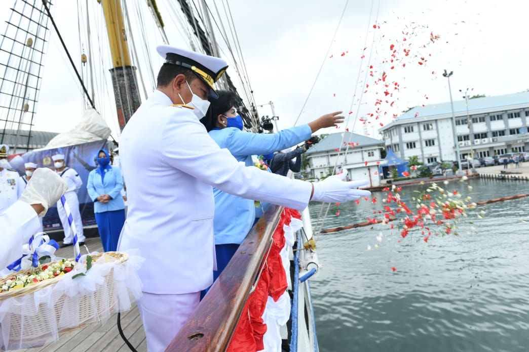
[[[117,241],[125,223],[125,202],[121,196],[121,170],[110,166],[110,155],[101,149],[97,155],[98,168],[90,171],[86,189],[94,202],[99,237],[105,252],[116,251]]]

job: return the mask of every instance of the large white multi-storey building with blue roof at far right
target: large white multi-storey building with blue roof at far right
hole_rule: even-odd
[[[529,150],[529,91],[415,107],[380,128],[385,145],[402,159],[423,163]],[[455,133],[454,133],[455,129]]]

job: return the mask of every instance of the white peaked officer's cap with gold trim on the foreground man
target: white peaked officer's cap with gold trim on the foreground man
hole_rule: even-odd
[[[193,71],[211,88],[211,97],[218,98],[213,84],[228,68],[226,61],[214,56],[180,49],[171,45],[158,45],[156,51],[165,59],[164,63],[182,66]]]

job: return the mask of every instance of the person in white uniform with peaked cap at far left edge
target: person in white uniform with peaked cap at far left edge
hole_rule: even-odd
[[[19,199],[24,191],[24,182],[16,170],[11,168],[7,161],[7,152],[9,147],[5,144],[0,145],[0,212]]]

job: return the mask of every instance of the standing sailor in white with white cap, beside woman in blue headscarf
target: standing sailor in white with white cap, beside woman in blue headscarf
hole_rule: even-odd
[[[77,241],[79,245],[83,245],[85,244],[85,236],[83,235],[83,221],[81,220],[81,213],[79,212],[79,198],[77,198],[77,191],[83,186],[83,180],[81,180],[76,170],[66,166],[65,156],[63,154],[53,155],[51,159],[53,160],[53,166],[57,174],[68,185],[65,198],[70,207],[71,216],[74,218],[75,229],[77,230]],[[60,200],[57,202],[57,212],[61,219],[62,229],[65,231],[65,239],[62,241],[61,247],[72,245],[74,242],[74,234],[70,230],[68,215]]]

